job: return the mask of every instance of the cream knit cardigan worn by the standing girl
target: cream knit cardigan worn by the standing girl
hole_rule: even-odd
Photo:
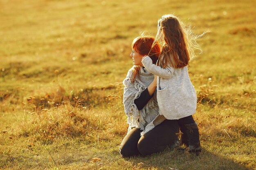
[[[161,68],[146,56],[142,64],[152,74],[157,75],[157,102],[159,114],[166,119],[180,119],[195,113],[197,96],[190,79],[187,66]]]

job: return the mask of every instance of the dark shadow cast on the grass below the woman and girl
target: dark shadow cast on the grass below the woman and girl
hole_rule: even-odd
[[[202,149],[199,156],[166,149],[162,153],[155,153],[147,157],[125,158],[134,164],[135,169],[163,169],[168,170],[250,170],[229,159],[208,150]]]

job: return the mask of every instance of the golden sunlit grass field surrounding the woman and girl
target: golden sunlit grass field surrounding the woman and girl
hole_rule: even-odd
[[[0,0],[0,169],[256,170],[255,0]],[[203,53],[199,156],[124,159],[131,42],[174,13]]]

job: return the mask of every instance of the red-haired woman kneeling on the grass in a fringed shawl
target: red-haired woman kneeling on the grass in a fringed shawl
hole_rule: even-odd
[[[153,42],[154,38],[145,36],[137,37],[132,42],[130,57],[133,59],[134,66],[128,71],[123,81],[124,110],[129,124],[128,133],[119,148],[123,157],[150,155],[163,151],[167,146],[179,145],[175,134],[179,132],[177,121],[167,119],[163,121],[161,116],[158,116],[156,76],[149,73],[141,63],[144,55],[148,55],[153,64],[157,62],[160,46],[157,43],[152,46]],[[150,124],[153,126],[147,126]]]

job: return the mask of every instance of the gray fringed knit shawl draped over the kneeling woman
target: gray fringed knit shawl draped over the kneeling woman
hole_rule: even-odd
[[[165,118],[162,115],[159,115],[159,107],[156,101],[156,97],[152,97],[148,103],[141,110],[137,109],[137,106],[134,103],[134,100],[137,99],[140,94],[150,85],[154,79],[154,75],[149,73],[146,68],[141,66],[139,76],[136,75],[135,82],[132,83],[133,76],[133,66],[127,73],[126,79],[124,79],[124,112],[126,113],[128,119],[127,123],[129,124],[128,132],[131,128],[140,128],[143,130],[141,135],[144,135],[149,130],[153,129],[155,126],[160,124]],[[156,95],[156,93],[155,93]],[[153,113],[154,112],[154,113]],[[154,114],[157,115],[153,117],[153,120],[147,122],[147,117]]]

